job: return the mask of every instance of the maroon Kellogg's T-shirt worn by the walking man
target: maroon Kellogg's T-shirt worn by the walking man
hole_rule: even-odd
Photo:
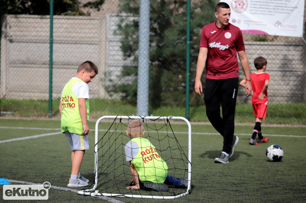
[[[218,28],[216,22],[202,28],[200,47],[208,49],[206,60],[206,78],[238,78],[237,51],[245,50],[241,30],[228,24]]]

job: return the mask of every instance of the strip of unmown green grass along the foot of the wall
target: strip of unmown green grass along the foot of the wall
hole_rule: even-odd
[[[52,102],[52,117],[59,118],[59,99]],[[0,100],[2,112],[10,112],[10,114],[2,114],[6,117],[47,117],[48,116],[48,100]],[[136,115],[137,108],[135,105],[119,100],[91,99],[90,100],[90,116],[97,119],[104,115]],[[149,115],[154,116],[182,116],[186,117],[185,105],[182,107],[163,106],[160,108],[149,108]],[[206,116],[206,108],[204,102],[199,106],[189,107],[190,121],[208,122]],[[235,121],[237,123],[253,123],[255,122],[252,104],[237,103]],[[267,118],[263,121],[267,124],[292,124],[306,125],[306,103],[288,103],[288,104],[269,104],[267,109]]]

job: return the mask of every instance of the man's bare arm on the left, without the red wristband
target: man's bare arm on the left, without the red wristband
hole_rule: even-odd
[[[203,92],[203,87],[201,83],[201,76],[203,74],[205,63],[207,59],[208,49],[205,47],[200,47],[198,62],[196,64],[196,83],[194,85],[194,89],[198,95],[201,96],[201,92]]]

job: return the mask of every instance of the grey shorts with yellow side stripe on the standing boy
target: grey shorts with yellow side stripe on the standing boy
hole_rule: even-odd
[[[70,148],[72,151],[89,149],[88,135],[79,135],[68,131],[65,131],[64,133],[69,141]]]

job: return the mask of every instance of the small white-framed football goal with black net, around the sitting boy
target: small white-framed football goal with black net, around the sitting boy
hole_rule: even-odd
[[[184,180],[185,187],[169,185],[165,181],[168,185],[166,191],[146,187],[139,190],[128,188],[133,182],[131,181],[133,176],[130,161],[127,161],[129,156],[125,154],[125,146],[131,141],[126,130],[132,120],[138,120],[137,122],[143,125],[142,138],[149,140],[149,143],[155,147],[155,149],[148,147],[143,152],[139,150],[139,153],[143,153],[140,153],[143,156],[140,157],[141,163],[161,157],[168,168],[166,174],[179,181]],[[191,125],[189,121],[175,116],[103,116],[99,118],[95,125],[94,172],[93,183],[78,191],[78,194],[157,199],[174,199],[190,194]]]

